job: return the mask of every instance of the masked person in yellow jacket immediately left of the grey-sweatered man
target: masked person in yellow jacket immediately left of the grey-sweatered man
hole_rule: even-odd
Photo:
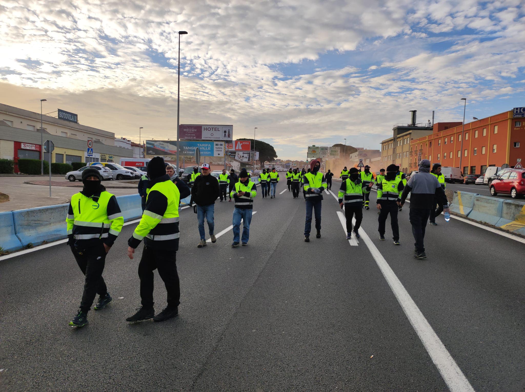
[[[400,245],[399,225],[397,223],[397,213],[399,212],[400,194],[404,189],[403,181],[396,176],[397,166],[389,165],[386,168],[386,175],[381,183],[377,182],[377,209],[379,213],[379,239],[385,239],[385,224],[388,214],[390,214],[390,224],[392,226],[392,239],[394,245]],[[378,176],[379,177],[379,176]]]

